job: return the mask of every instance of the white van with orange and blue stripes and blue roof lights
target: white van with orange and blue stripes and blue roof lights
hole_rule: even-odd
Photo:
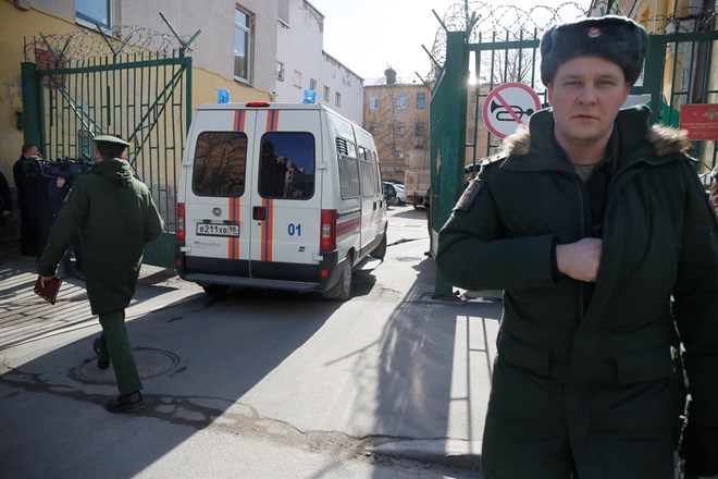
[[[181,278],[346,300],[351,270],[386,253],[372,136],[313,103],[199,107],[177,187]]]

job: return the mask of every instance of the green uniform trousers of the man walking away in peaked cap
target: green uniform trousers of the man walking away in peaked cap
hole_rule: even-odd
[[[129,337],[125,329],[125,311],[99,315],[102,326],[99,357],[110,358],[120,394],[129,394],[143,389],[139,372],[132,354]]]

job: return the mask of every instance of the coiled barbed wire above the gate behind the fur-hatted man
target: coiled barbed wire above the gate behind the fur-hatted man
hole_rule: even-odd
[[[482,0],[469,0],[467,11],[466,2],[457,1],[442,17],[443,25],[436,30],[431,57],[438,66],[443,65],[446,56],[446,32],[466,32],[472,15],[475,15],[474,23],[468,32],[468,41],[471,44],[492,41],[492,38],[497,40],[541,38],[541,34],[552,26],[586,16],[603,15],[607,8],[608,0],[601,0],[594,9],[581,5],[575,1],[567,1],[557,7],[534,5],[523,9],[516,5],[495,5]],[[623,12],[614,2],[610,13],[631,16],[634,12]],[[697,32],[713,29],[717,16],[718,7],[713,10],[686,7],[676,9],[671,14],[655,15],[641,23],[652,34]],[[437,74],[436,65],[433,66],[426,75],[428,81],[433,81]]]

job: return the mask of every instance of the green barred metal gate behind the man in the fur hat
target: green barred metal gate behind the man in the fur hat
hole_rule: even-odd
[[[691,17],[690,25],[673,20],[667,24],[673,33],[649,35],[644,73],[631,89],[630,101],[648,103],[652,123],[678,126],[681,106],[718,103],[718,77],[711,76],[713,54],[718,52],[714,50],[718,40],[718,32],[713,29],[714,16],[709,15],[709,21],[703,19],[702,23]],[[434,234],[450,216],[463,191],[466,176],[474,175],[476,163],[493,155],[500,144],[500,138],[490,133],[482,120],[488,94],[500,84],[517,82],[531,87],[542,99],[543,107],[548,106],[546,87],[540,79],[538,48],[543,32],[552,24],[541,30],[507,30],[486,38],[482,33],[471,33],[475,15],[465,19],[466,30],[445,34],[444,64],[432,91]],[[469,42],[470,38],[478,41]],[[692,145],[690,153],[700,160],[697,172],[707,181],[707,173],[717,164],[718,144],[704,140]],[[451,286],[441,277],[436,279],[436,294],[451,294]]]

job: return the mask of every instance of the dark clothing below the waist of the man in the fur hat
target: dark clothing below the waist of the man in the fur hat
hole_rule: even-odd
[[[485,479],[672,479],[671,379],[571,385],[499,355],[484,429]]]

